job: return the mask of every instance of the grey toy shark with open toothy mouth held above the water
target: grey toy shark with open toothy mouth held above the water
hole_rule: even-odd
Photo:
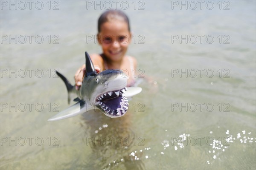
[[[70,94],[73,93],[77,95],[74,100],[77,103],[48,121],[65,119],[93,109],[99,109],[111,118],[123,116],[127,112],[128,99],[125,97],[127,78],[123,76],[122,71],[110,69],[97,74],[87,52],[85,52],[85,61],[86,74],[79,91],[75,89],[75,85],[70,84],[66,77],[56,72],[67,87],[68,102],[71,99]]]

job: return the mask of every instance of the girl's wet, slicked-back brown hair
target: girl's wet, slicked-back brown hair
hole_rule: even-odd
[[[125,21],[128,24],[128,30],[130,31],[130,23],[127,15],[120,10],[108,10],[103,12],[98,20],[98,33],[101,31],[101,25],[111,20]]]

